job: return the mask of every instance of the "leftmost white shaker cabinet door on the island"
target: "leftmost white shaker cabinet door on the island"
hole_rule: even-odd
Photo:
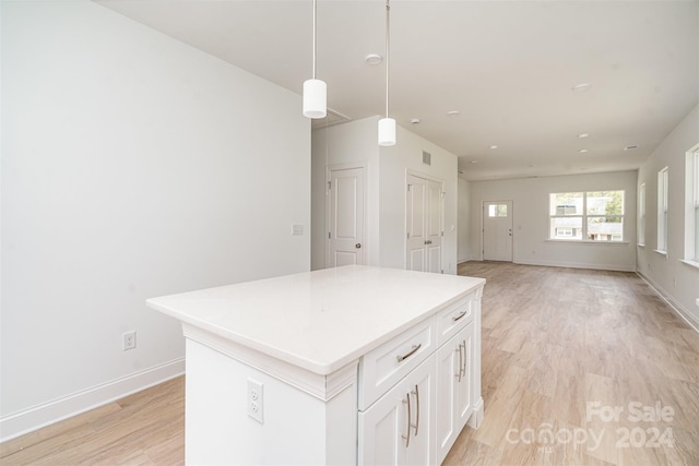
[[[399,383],[359,413],[357,458],[360,465],[405,464],[405,441],[401,434],[407,432],[406,403],[404,384]]]

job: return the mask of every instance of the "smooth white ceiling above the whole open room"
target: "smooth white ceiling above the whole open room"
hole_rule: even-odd
[[[97,2],[293,92],[311,75],[311,0]],[[383,0],[317,23],[328,106],[383,113]],[[390,64],[391,117],[464,179],[636,169],[699,101],[699,1],[392,0]]]

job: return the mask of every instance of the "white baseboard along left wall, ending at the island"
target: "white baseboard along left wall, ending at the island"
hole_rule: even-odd
[[[145,369],[0,418],[0,443],[185,373],[185,358]]]

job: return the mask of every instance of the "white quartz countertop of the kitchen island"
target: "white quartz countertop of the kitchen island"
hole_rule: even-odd
[[[347,265],[152,298],[146,304],[327,375],[484,284]]]

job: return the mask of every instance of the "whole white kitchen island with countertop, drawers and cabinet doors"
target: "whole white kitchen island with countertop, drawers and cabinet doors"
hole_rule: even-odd
[[[153,298],[188,464],[441,463],[483,418],[483,278],[350,265]]]

